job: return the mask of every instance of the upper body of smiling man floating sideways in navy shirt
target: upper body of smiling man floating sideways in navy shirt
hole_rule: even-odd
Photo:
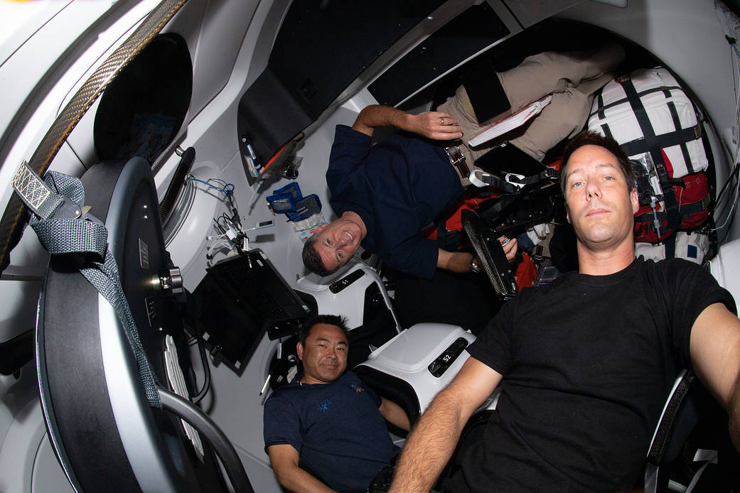
[[[423,279],[437,268],[471,271],[473,255],[445,251],[419,231],[462,195],[460,176],[441,146],[428,140],[462,137],[457,119],[447,112],[411,115],[389,106],[367,106],[354,124],[337,125],[326,183],[329,204],[339,217],[317,228],[303,247],[303,263],[326,276],[360,248],[386,264]],[[414,135],[393,135],[371,146],[374,129],[393,126]],[[517,242],[508,242],[509,260]]]

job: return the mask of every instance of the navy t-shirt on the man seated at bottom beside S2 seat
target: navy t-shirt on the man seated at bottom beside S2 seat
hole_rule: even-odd
[[[380,397],[349,371],[331,384],[295,380],[265,403],[265,451],[292,445],[331,488],[364,492],[398,453],[380,404]]]

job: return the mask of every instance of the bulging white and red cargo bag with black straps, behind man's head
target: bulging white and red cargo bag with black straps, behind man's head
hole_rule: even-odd
[[[615,78],[594,98],[588,129],[613,137],[633,160],[640,203],[636,242],[657,242],[707,219],[704,171],[711,154],[701,120],[663,67]]]

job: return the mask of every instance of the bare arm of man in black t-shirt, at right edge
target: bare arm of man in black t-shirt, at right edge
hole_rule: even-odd
[[[740,319],[722,303],[704,308],[690,348],[694,371],[727,410],[730,438],[740,450]]]

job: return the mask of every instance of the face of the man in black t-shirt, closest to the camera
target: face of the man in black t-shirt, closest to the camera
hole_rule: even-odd
[[[586,248],[604,250],[633,241],[637,191],[629,186],[614,154],[600,146],[583,146],[565,169],[568,221]]]

